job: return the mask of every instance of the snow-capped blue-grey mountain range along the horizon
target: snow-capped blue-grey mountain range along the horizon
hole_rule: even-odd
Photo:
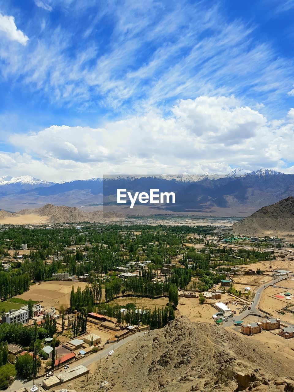
[[[104,205],[104,211],[142,214],[142,204],[129,209],[116,205],[117,189],[131,192],[174,192],[174,205],[144,205],[144,213],[248,216],[261,207],[294,195],[294,174],[236,168],[229,174],[205,173],[156,176],[104,176],[54,183],[30,176],[0,178],[0,209],[16,211],[45,204],[67,205],[88,211]]]

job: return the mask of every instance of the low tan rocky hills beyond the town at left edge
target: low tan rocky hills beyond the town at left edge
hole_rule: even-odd
[[[124,219],[122,214],[116,212],[104,212],[103,211],[90,211],[84,212],[76,207],[67,207],[66,205],[53,205],[46,204],[43,207],[37,209],[24,209],[14,214],[7,211],[0,211],[0,223],[16,223],[17,218],[25,217],[25,223],[35,223],[36,217],[43,217],[40,223],[79,223],[79,222],[109,222],[109,221],[120,221]],[[10,222],[10,218],[12,218]],[[31,219],[30,219],[31,218]]]

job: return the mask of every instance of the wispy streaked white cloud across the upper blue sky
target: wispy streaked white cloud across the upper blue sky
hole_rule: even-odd
[[[65,6],[82,10],[78,1]],[[254,39],[254,26],[226,22],[216,5],[109,1],[83,28],[71,17],[66,29],[43,24],[26,51],[2,50],[6,78],[58,106],[116,113],[144,113],[199,94],[269,103],[292,86],[292,61]]]

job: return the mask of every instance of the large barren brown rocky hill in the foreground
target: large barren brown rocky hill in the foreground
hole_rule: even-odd
[[[115,392],[294,391],[292,367],[256,340],[181,316],[116,350],[87,388],[106,380]]]

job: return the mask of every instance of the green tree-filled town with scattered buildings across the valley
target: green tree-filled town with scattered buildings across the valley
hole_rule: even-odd
[[[294,336],[292,240],[212,226],[2,227],[2,388],[70,389],[180,314],[283,346]]]

